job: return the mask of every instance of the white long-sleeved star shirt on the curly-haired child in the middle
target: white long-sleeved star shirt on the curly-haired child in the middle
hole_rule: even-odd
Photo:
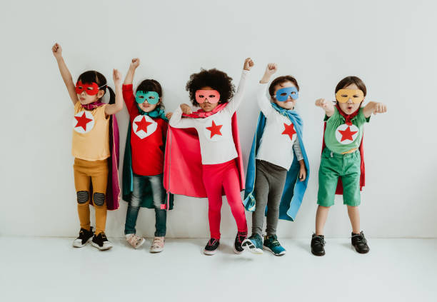
[[[174,111],[169,121],[174,128],[195,128],[199,134],[202,163],[211,165],[226,163],[238,156],[233,143],[231,120],[243,100],[248,71],[243,70],[238,89],[228,105],[216,114],[204,119],[182,117],[181,106]]]

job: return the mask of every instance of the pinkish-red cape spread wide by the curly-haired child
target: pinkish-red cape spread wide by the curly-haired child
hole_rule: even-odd
[[[240,191],[243,191],[243,158],[235,113],[232,116],[231,126],[233,142],[238,154],[235,161],[240,178]],[[199,134],[196,129],[179,129],[169,125],[164,160],[164,188],[166,191],[190,197],[207,197],[202,173]]]

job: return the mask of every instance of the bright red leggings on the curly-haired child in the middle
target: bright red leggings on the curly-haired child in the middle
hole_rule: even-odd
[[[203,179],[208,195],[208,217],[211,238],[220,239],[221,193],[224,189],[239,232],[247,232],[246,214],[235,160],[215,165],[203,165]]]

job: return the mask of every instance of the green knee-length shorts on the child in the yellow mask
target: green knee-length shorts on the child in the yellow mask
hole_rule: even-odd
[[[359,206],[361,203],[360,165],[359,150],[348,154],[338,154],[325,148],[318,169],[317,204],[320,206],[333,206],[338,176],[341,176],[343,204]]]

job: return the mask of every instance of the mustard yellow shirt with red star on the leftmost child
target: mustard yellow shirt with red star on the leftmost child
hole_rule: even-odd
[[[73,144],[71,153],[85,161],[101,161],[111,156],[109,151],[109,119],[105,107],[85,110],[80,101],[74,105]]]

